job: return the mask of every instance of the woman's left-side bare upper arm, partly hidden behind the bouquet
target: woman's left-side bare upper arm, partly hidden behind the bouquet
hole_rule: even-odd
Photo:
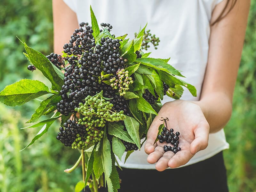
[[[53,50],[62,55],[63,45],[69,43],[70,36],[78,28],[76,13],[63,0],[52,1]]]

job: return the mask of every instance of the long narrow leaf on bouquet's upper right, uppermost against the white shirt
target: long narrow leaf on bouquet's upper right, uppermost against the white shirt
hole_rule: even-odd
[[[157,70],[162,70],[167,73],[171,73],[173,75],[184,77],[180,74],[180,71],[172,67],[170,64],[165,63],[162,60],[155,59],[155,58],[138,58],[135,60],[135,62],[141,62],[141,64],[146,65],[148,67],[156,68]]]

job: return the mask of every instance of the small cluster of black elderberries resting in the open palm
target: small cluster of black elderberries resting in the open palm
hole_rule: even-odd
[[[173,147],[165,145],[165,152],[172,151],[173,153],[177,153],[181,150],[181,148],[179,147],[179,135],[180,132],[174,133],[173,129],[168,130],[166,127],[163,127],[162,132],[160,135],[157,136],[157,139],[159,139],[160,143],[163,143],[165,141],[166,143],[171,143],[173,145]]]

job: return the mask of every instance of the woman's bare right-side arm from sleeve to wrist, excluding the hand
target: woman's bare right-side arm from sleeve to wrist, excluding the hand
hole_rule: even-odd
[[[216,6],[212,22],[226,2]],[[210,132],[217,132],[228,123],[232,112],[232,98],[240,64],[250,0],[239,0],[220,22],[211,27],[208,64],[201,98],[198,104],[210,124]]]

